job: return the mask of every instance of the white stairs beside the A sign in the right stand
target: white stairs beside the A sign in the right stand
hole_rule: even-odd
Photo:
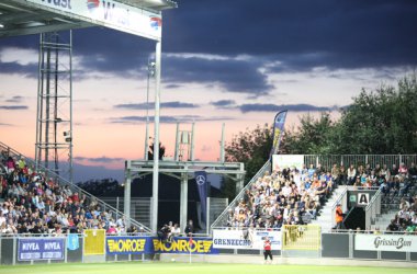
[[[317,216],[315,220],[312,220],[312,225],[317,225],[322,227],[322,232],[328,232],[335,226],[333,224],[334,217],[334,206],[339,201],[340,196],[346,191],[346,186],[339,186],[333,191],[330,198],[325,205],[323,205],[319,210],[320,216]]]

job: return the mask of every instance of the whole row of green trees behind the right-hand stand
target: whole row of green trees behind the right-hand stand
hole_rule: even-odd
[[[381,85],[353,98],[353,103],[331,122],[305,115],[296,129],[286,130],[282,151],[302,155],[364,155],[417,152],[417,77]]]

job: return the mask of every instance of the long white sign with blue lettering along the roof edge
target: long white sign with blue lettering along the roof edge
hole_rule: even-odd
[[[47,10],[71,14],[98,25],[117,31],[137,34],[151,39],[160,39],[162,35],[162,18],[160,13],[138,9],[114,0],[26,0]],[[93,43],[93,42],[92,42]],[[93,44],[92,44],[93,46]]]

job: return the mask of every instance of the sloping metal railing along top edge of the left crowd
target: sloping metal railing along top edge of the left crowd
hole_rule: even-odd
[[[0,141],[0,149],[1,149],[1,153],[3,151],[7,151],[8,156],[11,156],[11,157],[24,157],[25,158],[25,161],[26,161],[26,164],[30,163],[31,165],[35,167],[35,162],[25,157],[24,155],[20,153],[19,151],[12,149],[11,147],[4,145],[3,142]],[[68,180],[59,176],[59,174],[57,174],[56,172],[49,170],[49,169],[46,169],[45,167],[40,167],[38,168],[38,171],[41,172],[45,172],[45,174],[48,175],[48,178],[54,178],[57,180],[57,183],[59,183],[60,185],[68,185],[70,187],[70,190],[72,192],[77,192],[79,194],[80,197],[82,196],[86,196],[88,198],[88,201],[90,202],[90,204],[95,204],[98,206],[100,206],[100,208],[102,208],[102,210],[104,212],[108,212],[112,214],[112,217],[113,218],[116,218],[119,216],[122,216],[122,217],[125,217],[124,213],[117,210],[116,208],[114,208],[113,206],[104,203],[102,199],[95,197],[94,195],[86,192],[84,190],[80,189],[78,185],[74,184],[72,182],[69,182]],[[144,226],[143,224],[140,224],[139,221],[135,220],[135,219],[128,219],[126,221],[129,221],[131,225],[137,227],[137,228],[140,228],[142,230],[145,230],[146,232],[150,232],[151,230]]]

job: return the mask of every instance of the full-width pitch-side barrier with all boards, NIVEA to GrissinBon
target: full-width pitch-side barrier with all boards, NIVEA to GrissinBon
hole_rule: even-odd
[[[280,230],[216,229],[213,237],[105,236],[100,230],[59,237],[0,237],[0,264],[81,263],[158,260],[160,253],[261,255],[264,237],[282,258],[393,260],[417,262],[417,235],[343,231],[320,233],[315,227]]]

